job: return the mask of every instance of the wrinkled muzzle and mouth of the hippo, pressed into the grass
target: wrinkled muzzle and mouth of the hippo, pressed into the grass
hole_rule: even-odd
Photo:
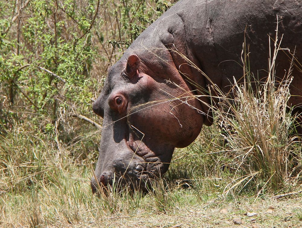
[[[124,139],[118,143],[123,145],[122,149],[115,154],[111,168],[102,168],[102,172],[96,173],[98,182],[92,178],[93,193],[98,192],[100,187],[106,192],[113,186],[118,191],[127,186],[130,190],[147,192],[151,182],[168,170],[174,148],[150,148],[152,142],[140,137],[130,127],[125,133]],[[165,154],[171,154],[171,157],[166,158]]]

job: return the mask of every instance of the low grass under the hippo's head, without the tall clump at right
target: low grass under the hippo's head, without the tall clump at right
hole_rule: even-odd
[[[212,141],[218,141],[215,138],[217,128],[205,129],[201,138],[210,137],[209,131],[214,136]],[[233,174],[227,168],[221,169],[219,164],[225,162],[222,153],[220,160],[209,166],[212,162],[208,157],[210,148],[204,140],[199,139],[190,147],[175,152],[169,172],[153,185],[153,192],[143,195],[111,189],[109,195],[97,197],[91,194],[89,186],[92,176],[89,161],[73,162],[72,157],[58,160],[55,153],[47,153],[49,143],[41,138],[40,144],[26,144],[24,136],[16,141],[6,139],[12,144],[7,147],[13,149],[11,152],[26,152],[23,159],[33,160],[28,160],[30,165],[23,167],[26,168],[23,171],[16,163],[11,164],[14,168],[10,172],[2,169],[0,180],[6,187],[2,187],[0,198],[0,226],[232,227],[234,217],[242,217],[243,225],[251,226],[253,223],[244,215],[246,212],[258,213],[255,223],[262,227],[293,224],[298,227],[301,224],[301,194],[278,200],[265,194],[257,199],[255,191],[242,186],[239,186],[243,189],[241,194],[223,194]],[[43,153],[38,156],[38,151]],[[4,164],[8,165],[5,162],[1,167]],[[9,180],[11,183],[7,183]],[[296,186],[292,191],[299,189],[300,186]],[[276,207],[273,214],[267,213],[269,205]],[[227,213],[221,214],[222,209]]]

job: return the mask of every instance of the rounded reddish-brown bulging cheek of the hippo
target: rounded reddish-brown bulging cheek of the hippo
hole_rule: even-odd
[[[154,142],[159,140],[173,147],[186,147],[201,131],[203,115],[187,103],[176,101],[142,107],[133,110],[128,122]]]

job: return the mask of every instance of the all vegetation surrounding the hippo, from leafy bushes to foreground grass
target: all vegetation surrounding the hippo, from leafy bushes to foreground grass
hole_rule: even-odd
[[[237,85],[236,106],[221,102],[153,192],[91,194],[102,124],[92,102],[108,66],[173,3],[0,0],[0,226],[302,226],[289,79],[256,97]]]

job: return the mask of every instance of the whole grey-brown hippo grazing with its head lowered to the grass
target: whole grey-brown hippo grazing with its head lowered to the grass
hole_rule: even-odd
[[[180,1],[150,25],[108,70],[93,103],[93,111],[104,119],[95,169],[100,185],[111,185],[115,176],[115,181],[122,177],[123,184],[144,189],[148,178],[167,171],[175,147],[188,146],[203,124],[213,123],[208,97],[184,98],[207,94],[211,82],[169,49],[184,54],[228,92],[233,77],[243,75],[244,37],[251,71],[259,80],[267,76],[268,40],[275,39],[277,14],[279,38],[284,33],[281,46],[295,50],[302,62],[301,1]],[[281,78],[290,66],[288,56],[280,51],[276,60]],[[301,70],[295,66],[292,76],[291,94],[298,96],[289,104],[300,106],[295,111],[301,113]],[[97,181],[91,180],[93,192]]]

